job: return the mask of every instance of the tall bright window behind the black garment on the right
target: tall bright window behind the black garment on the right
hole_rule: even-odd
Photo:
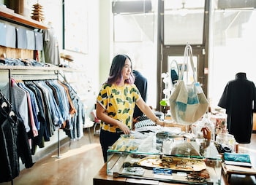
[[[219,103],[227,82],[235,79],[238,72],[245,72],[247,79],[256,83],[256,11],[252,2],[233,1],[230,4],[219,1],[211,15],[208,96],[214,107]]]

